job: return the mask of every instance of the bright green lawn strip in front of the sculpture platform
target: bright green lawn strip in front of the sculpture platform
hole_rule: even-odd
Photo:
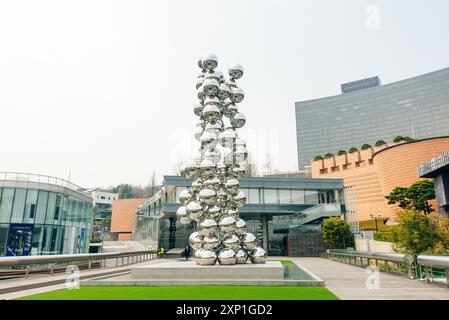
[[[89,286],[22,300],[337,300],[325,287],[286,286]]]

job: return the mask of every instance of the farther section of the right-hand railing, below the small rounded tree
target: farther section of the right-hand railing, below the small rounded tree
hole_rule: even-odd
[[[332,261],[348,263],[360,267],[376,266],[380,271],[387,271],[416,278],[413,257],[399,253],[369,253],[346,250],[327,250],[320,255]]]

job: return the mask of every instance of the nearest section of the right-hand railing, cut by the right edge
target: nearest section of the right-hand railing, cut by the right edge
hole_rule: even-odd
[[[419,255],[417,262],[424,280],[449,286],[449,256]]]

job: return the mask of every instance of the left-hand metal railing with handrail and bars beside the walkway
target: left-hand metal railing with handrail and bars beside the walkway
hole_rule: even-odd
[[[156,250],[62,254],[48,256],[0,257],[0,279],[21,277],[30,274],[65,272],[68,265],[76,265],[80,270],[93,268],[114,268],[157,258]]]

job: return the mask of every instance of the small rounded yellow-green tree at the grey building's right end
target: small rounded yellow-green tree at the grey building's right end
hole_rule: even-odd
[[[332,249],[346,249],[354,244],[351,227],[338,217],[331,217],[321,224],[321,234],[324,243]]]

